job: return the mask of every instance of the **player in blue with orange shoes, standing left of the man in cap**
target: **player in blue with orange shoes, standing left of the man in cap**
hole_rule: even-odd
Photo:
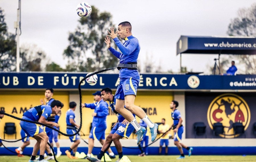
[[[69,109],[66,112],[66,123],[67,123],[67,134],[71,135],[74,134],[77,129],[79,127],[79,125],[76,124],[75,121],[75,110],[77,108],[77,103],[75,103],[74,101],[69,103]],[[69,137],[71,142],[74,142],[69,150],[66,150],[65,153],[67,154],[67,156],[70,159],[78,159],[77,157],[75,157],[75,153],[77,151],[77,147],[80,144],[80,136],[78,134],[76,134],[75,136],[71,136]],[[73,151],[73,155],[71,155],[71,151]]]

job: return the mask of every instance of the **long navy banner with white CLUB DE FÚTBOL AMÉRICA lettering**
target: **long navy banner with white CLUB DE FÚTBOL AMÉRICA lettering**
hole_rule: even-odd
[[[0,89],[77,89],[87,73],[0,73]],[[95,84],[83,81],[82,89],[117,88],[118,74],[97,74]],[[141,74],[140,89],[255,90],[256,75]]]

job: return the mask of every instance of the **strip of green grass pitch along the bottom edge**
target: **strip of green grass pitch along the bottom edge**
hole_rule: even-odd
[[[177,160],[178,155],[167,156],[167,155],[148,155],[144,157],[138,157],[135,155],[127,156],[131,162],[170,162],[170,161],[256,161],[256,155],[247,155],[247,156],[199,156],[199,155],[191,155],[191,157],[186,156],[185,159]],[[10,161],[10,162],[27,162],[29,160],[29,156],[17,157],[17,156],[0,156],[0,161]],[[69,159],[67,156],[62,155],[57,159],[59,162],[68,162],[68,161],[82,161],[89,162],[87,159]],[[115,162],[117,158],[112,159]],[[49,160],[50,162],[54,162],[54,160]]]

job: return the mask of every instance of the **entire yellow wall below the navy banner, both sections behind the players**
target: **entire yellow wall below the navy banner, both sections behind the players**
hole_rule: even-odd
[[[100,90],[100,89],[99,89]],[[93,95],[96,90],[86,90],[82,91],[82,103],[93,103]],[[115,91],[113,91],[115,93]],[[44,90],[36,91],[26,91],[26,90],[15,90],[15,91],[0,91],[0,107],[5,109],[5,112],[22,118],[22,114],[25,110],[28,110],[31,107],[40,105],[40,99],[44,99]],[[75,98],[70,96],[75,94]],[[77,103],[76,122],[80,123],[80,113],[79,113],[79,95],[77,91],[58,91],[54,89],[53,98],[61,101],[64,104],[62,108],[62,114],[59,119],[60,131],[66,133],[66,111],[69,108],[69,102],[74,101]],[[145,108],[146,114],[150,117],[153,122],[161,122],[162,118],[166,119],[166,123],[169,125],[172,124],[171,119],[171,109],[170,103],[173,100],[173,93],[170,91],[138,91],[137,97],[135,99],[135,105],[138,105],[142,108]],[[90,123],[92,122],[92,112],[94,110],[90,108],[82,108],[82,128],[80,135],[85,134],[82,138],[88,138]],[[111,111],[109,107],[110,115],[107,117],[107,129],[106,136],[111,130],[112,123],[117,121],[116,115]],[[136,117],[139,122],[140,119]],[[20,139],[20,125],[19,120],[13,119],[9,116],[5,116],[0,121],[0,137],[3,138],[3,130],[6,122],[15,122],[17,139]],[[130,138],[136,138],[134,135],[131,135]],[[15,135],[5,135],[5,139],[15,139]],[[68,139],[68,137],[61,135],[60,139]]]

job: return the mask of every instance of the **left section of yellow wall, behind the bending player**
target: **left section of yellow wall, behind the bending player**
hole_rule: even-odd
[[[11,114],[18,118],[22,118],[22,114],[25,109],[41,105],[40,99],[44,99],[44,90],[40,91],[0,91],[0,107],[5,109],[7,114]],[[66,123],[65,112],[69,108],[69,92],[68,91],[55,91],[53,98],[61,101],[64,104],[59,123]],[[0,137],[3,138],[4,125],[6,122],[14,122],[16,125],[17,139],[20,139],[20,125],[19,120],[11,118],[9,116],[4,116],[0,121]],[[60,124],[61,125],[61,124]],[[60,131],[66,132],[66,126],[61,126]],[[15,139],[15,135],[5,135],[5,139]]]

